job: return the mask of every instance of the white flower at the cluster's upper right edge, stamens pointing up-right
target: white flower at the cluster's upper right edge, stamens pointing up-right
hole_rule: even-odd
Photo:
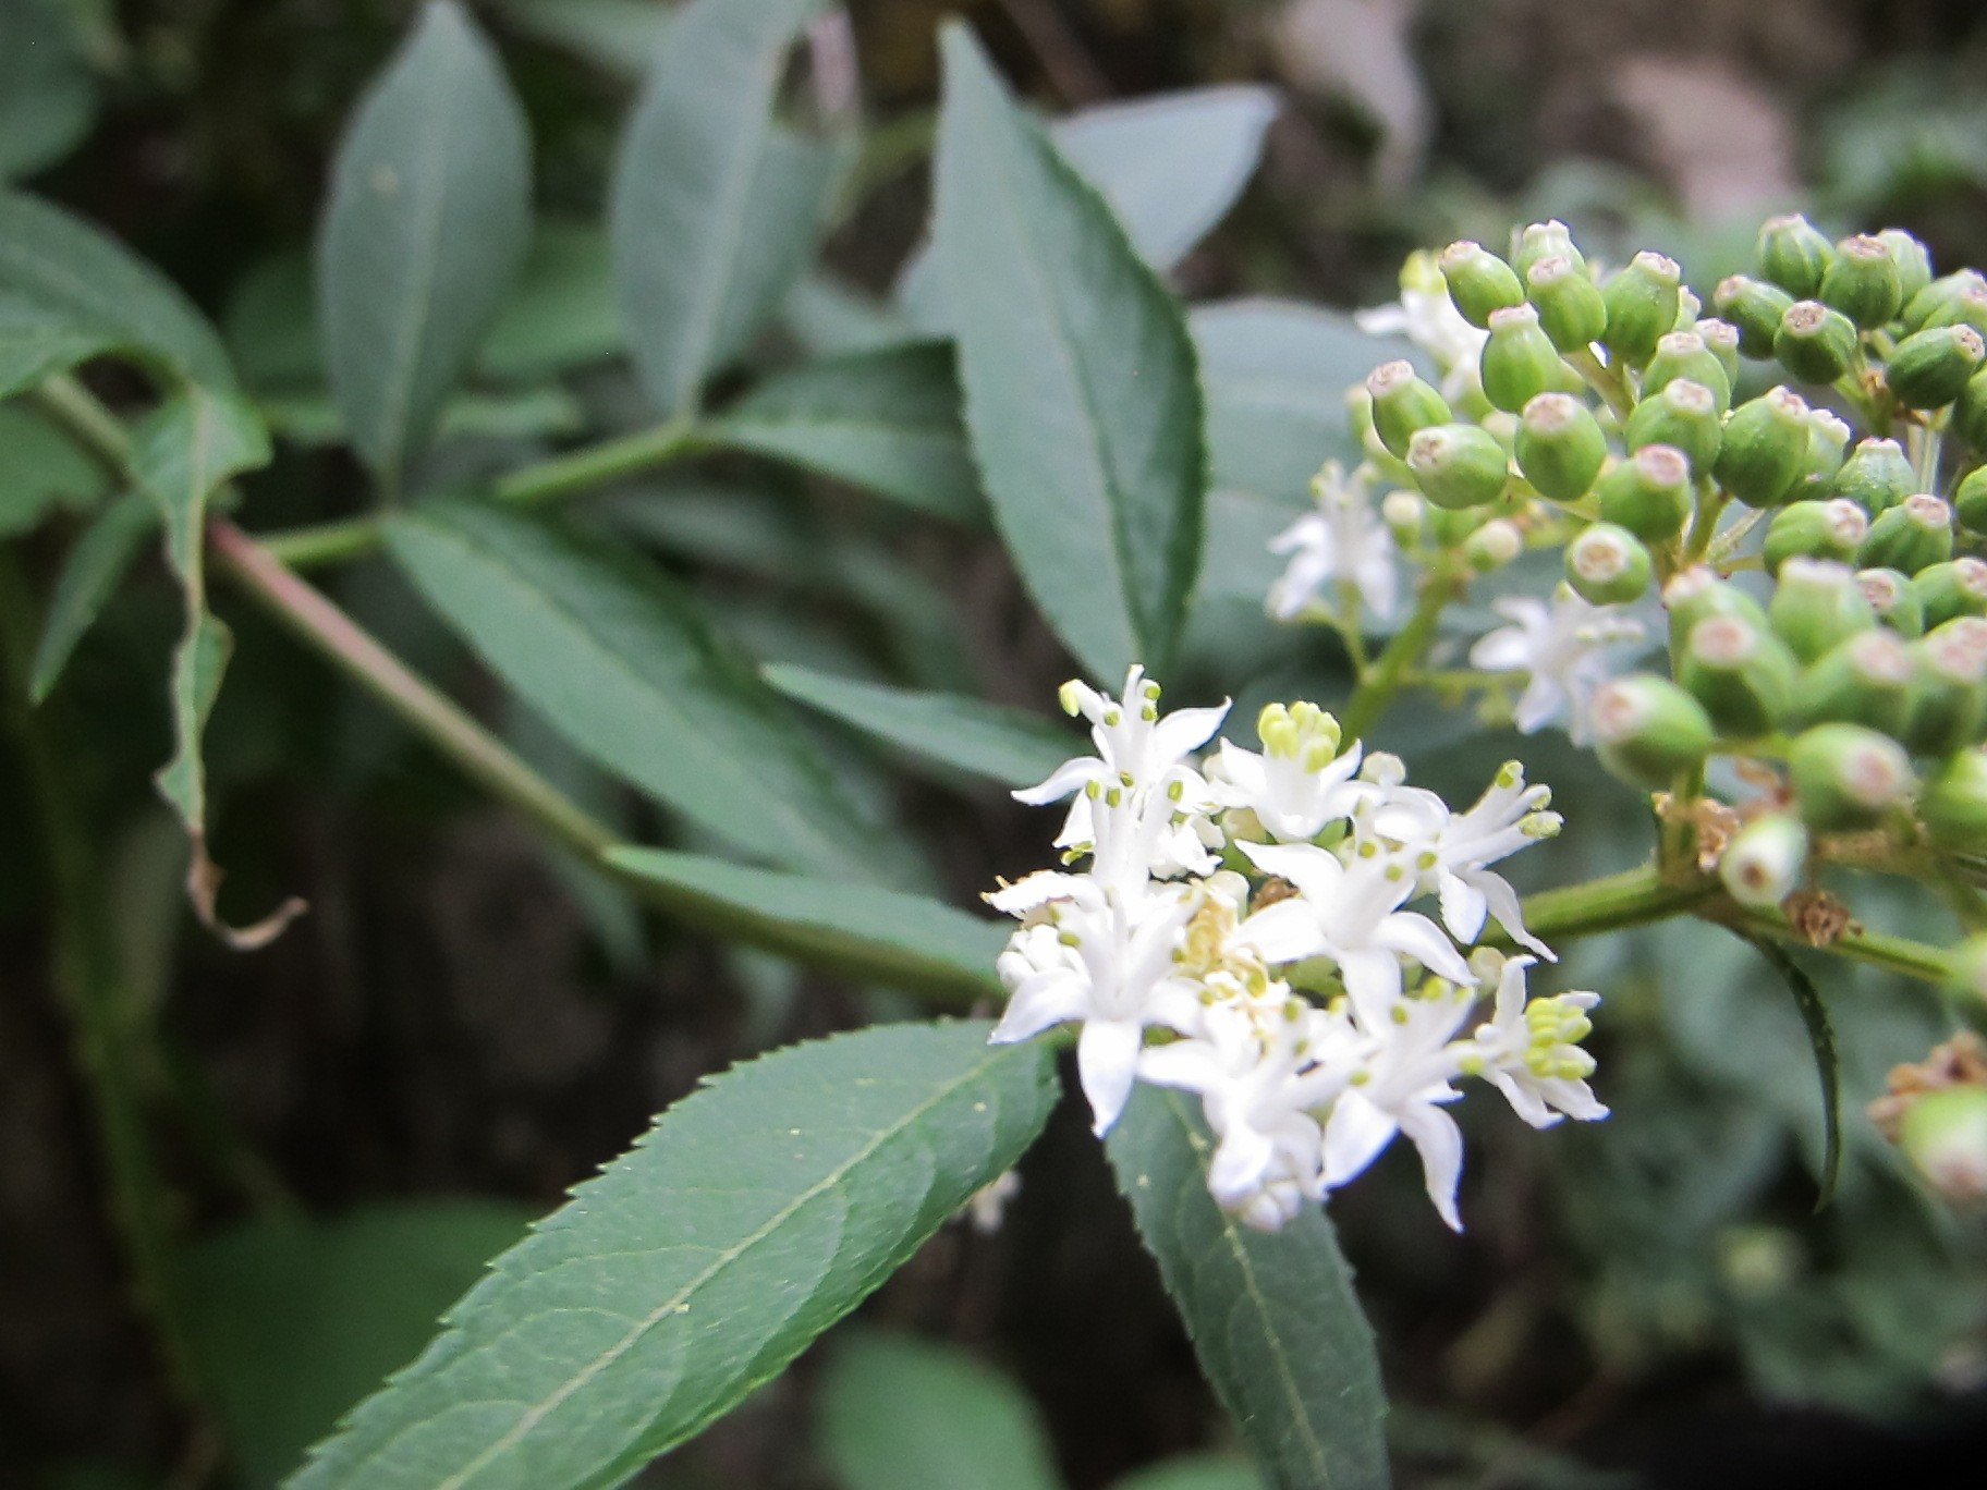
[[[1506,761],[1496,781],[1468,813],[1451,813],[1449,803],[1421,787],[1401,787],[1373,813],[1373,830],[1403,846],[1443,906],[1443,926],[1462,944],[1482,936],[1496,916],[1510,936],[1548,962],[1552,950],[1524,930],[1524,912],[1510,880],[1486,868],[1560,830],[1560,815],[1548,813],[1550,787],[1526,787],[1524,767]]]

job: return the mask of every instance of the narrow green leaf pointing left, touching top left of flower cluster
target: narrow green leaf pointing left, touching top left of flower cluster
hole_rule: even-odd
[[[960,693],[858,683],[791,664],[773,664],[761,671],[789,699],[912,755],[1007,787],[1033,787],[1083,751],[1083,741],[1051,719]]]

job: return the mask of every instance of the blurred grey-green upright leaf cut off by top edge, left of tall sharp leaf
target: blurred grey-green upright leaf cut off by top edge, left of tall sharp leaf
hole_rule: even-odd
[[[691,0],[670,22],[608,201],[636,370],[693,409],[813,254],[837,149],[773,119],[787,48],[819,0]]]

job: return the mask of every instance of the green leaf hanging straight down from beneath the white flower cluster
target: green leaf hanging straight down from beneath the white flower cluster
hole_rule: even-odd
[[[1208,1196],[1192,1097],[1141,1087],[1111,1130],[1119,1190],[1200,1369],[1278,1490],[1387,1484],[1379,1361],[1323,1210],[1252,1232]]]

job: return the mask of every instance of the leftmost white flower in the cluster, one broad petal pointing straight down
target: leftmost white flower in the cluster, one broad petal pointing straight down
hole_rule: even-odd
[[[1184,884],[1121,892],[1083,874],[1031,874],[1013,892],[1005,908],[1035,904],[995,964],[1007,1011],[992,1039],[1009,1045],[1081,1019],[1077,1075],[1105,1132],[1131,1097],[1146,1027],[1192,1033],[1200,1017],[1192,981],[1174,969],[1200,894]]]

